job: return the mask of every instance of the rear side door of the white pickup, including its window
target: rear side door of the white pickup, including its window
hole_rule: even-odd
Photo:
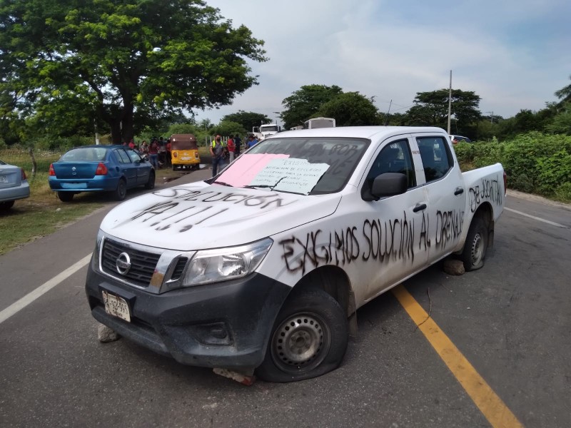
[[[465,188],[448,138],[441,135],[415,134],[413,144],[420,188],[428,210],[425,213],[429,248],[428,263],[432,264],[452,253],[460,241],[464,223]]]

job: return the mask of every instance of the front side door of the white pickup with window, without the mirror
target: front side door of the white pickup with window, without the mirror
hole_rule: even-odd
[[[365,202],[363,260],[374,266],[368,275],[365,299],[375,297],[395,282],[408,277],[428,263],[428,236],[425,224],[425,193],[417,185],[409,139],[403,136],[380,143],[363,180],[361,195],[380,174],[402,173],[408,190],[380,200]]]

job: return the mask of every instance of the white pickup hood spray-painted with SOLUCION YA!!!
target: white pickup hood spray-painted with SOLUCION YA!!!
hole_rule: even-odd
[[[335,212],[341,196],[190,183],[128,200],[101,223],[108,235],[170,250],[242,245]]]

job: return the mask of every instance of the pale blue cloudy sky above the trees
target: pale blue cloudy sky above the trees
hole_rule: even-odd
[[[452,87],[480,96],[486,116],[515,116],[557,101],[571,83],[570,0],[206,0],[265,42],[249,62],[253,86],[220,109],[276,119],[303,85],[337,85],[405,113],[416,93]],[[281,123],[280,123],[281,124]]]

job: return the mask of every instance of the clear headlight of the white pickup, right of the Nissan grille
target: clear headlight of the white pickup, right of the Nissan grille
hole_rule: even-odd
[[[184,275],[183,287],[245,277],[256,270],[272,243],[266,238],[239,247],[197,251]]]

